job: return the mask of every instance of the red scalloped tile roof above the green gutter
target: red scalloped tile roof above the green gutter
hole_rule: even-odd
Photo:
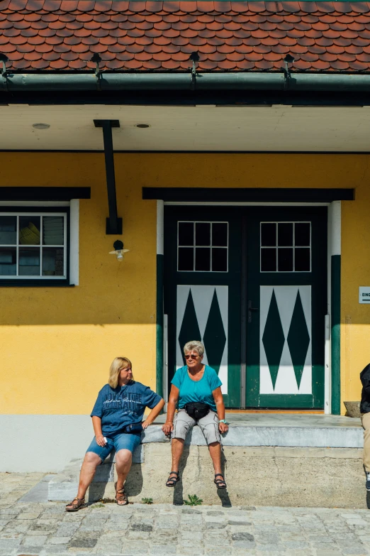
[[[0,0],[13,70],[369,72],[370,2]]]

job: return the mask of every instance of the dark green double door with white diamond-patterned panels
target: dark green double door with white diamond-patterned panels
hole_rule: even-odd
[[[323,408],[326,207],[165,207],[169,381],[205,345],[228,408]]]

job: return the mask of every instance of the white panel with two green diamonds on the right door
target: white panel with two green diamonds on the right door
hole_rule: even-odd
[[[311,394],[311,286],[261,286],[260,301],[259,392]]]

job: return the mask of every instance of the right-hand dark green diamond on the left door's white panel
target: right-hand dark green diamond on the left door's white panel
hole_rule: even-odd
[[[216,373],[218,373],[225,349],[226,335],[216,291],[213,294],[203,342],[206,347],[208,365],[213,367]]]

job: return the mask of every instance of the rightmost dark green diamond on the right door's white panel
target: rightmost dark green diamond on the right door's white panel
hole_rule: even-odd
[[[310,345],[310,334],[308,333],[307,324],[305,322],[305,314],[303,312],[299,290],[297,293],[296,305],[294,305],[287,341],[299,388],[301,386],[305,358]]]

